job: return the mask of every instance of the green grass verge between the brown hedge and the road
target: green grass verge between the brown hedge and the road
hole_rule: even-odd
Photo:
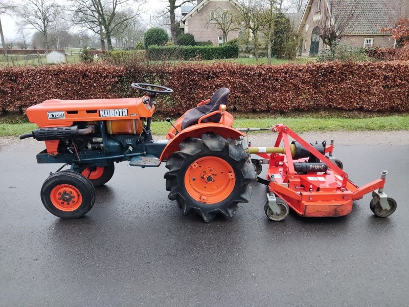
[[[260,114],[258,115],[260,116]],[[275,124],[284,123],[297,133],[306,131],[359,131],[359,130],[409,130],[409,115],[390,115],[376,117],[354,117],[340,118],[330,115],[308,115],[298,116],[278,116],[273,117],[265,114],[264,117],[250,118],[245,115],[236,115],[234,127],[271,127]],[[0,116],[0,137],[18,136],[34,130],[35,124],[27,122],[24,116],[8,115]],[[165,135],[170,128],[170,124],[164,120],[152,122],[152,133],[155,135]]]

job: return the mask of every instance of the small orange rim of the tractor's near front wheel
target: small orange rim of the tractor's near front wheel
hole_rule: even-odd
[[[60,184],[51,190],[50,200],[58,210],[70,212],[81,206],[82,196],[76,187]]]

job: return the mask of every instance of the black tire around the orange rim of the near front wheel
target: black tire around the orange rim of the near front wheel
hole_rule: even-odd
[[[65,212],[57,209],[50,200],[51,190],[59,184],[70,184],[75,186],[82,196],[81,206],[70,212]],[[50,213],[63,218],[65,220],[72,220],[74,218],[79,218],[85,215],[89,210],[92,209],[95,203],[95,188],[89,179],[82,176],[73,170],[64,170],[60,172],[53,173],[49,178],[47,178],[41,187],[41,201],[44,207]]]

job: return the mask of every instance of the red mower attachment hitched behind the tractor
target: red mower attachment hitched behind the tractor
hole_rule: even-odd
[[[386,171],[382,172],[380,179],[358,187],[349,180],[348,174],[334,163],[333,141],[329,146],[325,146],[326,143],[323,142],[325,149],[321,153],[283,124],[272,127],[272,131],[278,133],[275,147],[249,148],[249,152],[264,158],[260,161],[268,163],[269,194],[267,199],[271,210],[279,212],[275,201],[275,196],[278,196],[301,216],[343,216],[351,212],[353,201],[362,199],[363,195],[371,191],[374,191],[374,197],[381,196],[380,205],[383,210],[391,209],[388,202],[383,201],[388,197],[383,192]],[[293,159],[294,150],[291,148],[289,137],[308,150],[311,156]],[[278,147],[281,143],[284,146]],[[277,152],[280,149],[282,152]],[[311,158],[319,162],[308,163]],[[303,163],[307,164],[310,169],[305,172],[295,171],[294,166]],[[376,189],[379,189],[378,192],[375,191]]]

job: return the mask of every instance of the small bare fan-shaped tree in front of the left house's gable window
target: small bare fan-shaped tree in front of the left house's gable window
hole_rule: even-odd
[[[228,35],[230,32],[240,29],[240,25],[236,23],[237,17],[233,12],[229,12],[229,10],[218,8],[211,11],[207,19],[208,27],[221,30],[221,33],[223,33],[223,43],[228,41]]]

